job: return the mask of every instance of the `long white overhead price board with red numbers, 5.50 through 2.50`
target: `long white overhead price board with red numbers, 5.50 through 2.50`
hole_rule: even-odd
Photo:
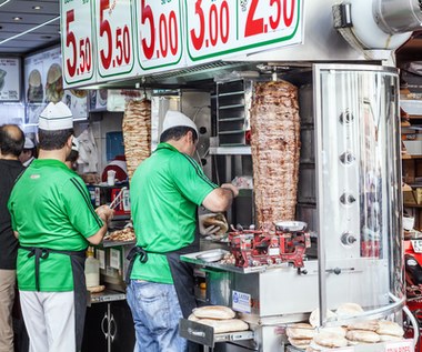
[[[87,87],[301,43],[303,0],[66,0],[61,18],[64,84]]]

